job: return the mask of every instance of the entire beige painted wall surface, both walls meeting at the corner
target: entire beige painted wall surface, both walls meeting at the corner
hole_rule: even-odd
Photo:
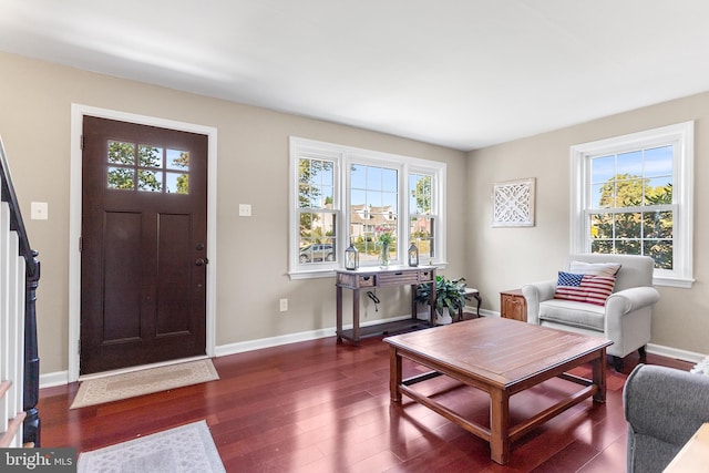
[[[38,323],[42,373],[68,369],[69,182],[71,104],[116,110],[218,130],[216,343],[226,346],[335,326],[333,279],[291,281],[288,250],[290,135],[448,163],[448,259],[483,307],[499,310],[499,292],[555,275],[568,251],[569,146],[649,127],[697,120],[695,282],[659,288],[653,343],[709,353],[707,223],[709,94],[464,153],[263,109],[114,79],[0,53],[0,136],[8,153],[42,279]],[[467,158],[466,158],[467,157]],[[265,186],[265,177],[270,185]],[[492,183],[536,177],[536,226],[492,228]],[[47,222],[29,220],[30,202],[49,203]],[[238,217],[238,204],[254,216]],[[256,251],[253,248],[263,248]],[[363,302],[364,320],[405,313],[405,295],[380,291],[380,312]],[[278,311],[278,299],[289,310]],[[349,299],[346,300],[346,304]]]

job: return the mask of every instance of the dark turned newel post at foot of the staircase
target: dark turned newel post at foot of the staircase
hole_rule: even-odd
[[[24,295],[24,400],[22,409],[27,413],[22,428],[22,442],[39,448],[40,413],[40,359],[37,343],[37,287],[40,281],[38,251],[32,250],[32,260],[27,261],[27,292]]]

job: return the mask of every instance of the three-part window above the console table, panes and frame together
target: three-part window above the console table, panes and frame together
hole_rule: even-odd
[[[290,138],[289,275],[329,275],[353,245],[360,266],[405,265],[411,243],[422,264],[444,264],[445,164]]]

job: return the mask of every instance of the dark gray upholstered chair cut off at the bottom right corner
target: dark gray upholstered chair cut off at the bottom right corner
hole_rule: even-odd
[[[661,472],[709,421],[709,377],[638,364],[623,390],[628,473]]]

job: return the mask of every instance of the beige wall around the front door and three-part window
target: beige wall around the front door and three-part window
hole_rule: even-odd
[[[448,206],[463,215],[465,154],[390,135],[186,94],[143,83],[0,54],[0,136],[32,246],[40,251],[41,372],[68,369],[71,104],[213,126],[218,130],[216,343],[226,346],[335,326],[333,278],[291,281],[288,250],[290,135],[448,164]],[[30,220],[30,202],[49,203],[49,220]],[[238,217],[238,204],[253,217]],[[463,220],[448,223],[446,274],[463,276]],[[405,313],[405,295],[381,291],[380,311]],[[278,311],[278,299],[289,310]]]

